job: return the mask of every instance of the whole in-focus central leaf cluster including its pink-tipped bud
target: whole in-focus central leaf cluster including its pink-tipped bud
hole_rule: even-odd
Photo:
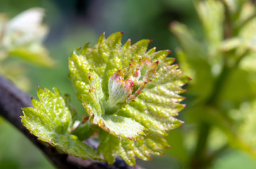
[[[165,131],[182,124],[174,116],[185,107],[179,94],[189,77],[170,65],[175,59],[165,58],[168,50],[146,51],[151,42],[146,39],[132,46],[128,39],[122,46],[121,39],[122,32],[107,39],[103,34],[92,48],[76,49],[69,58],[69,78],[88,122],[105,130],[100,130],[98,152],[108,163],[117,155],[134,165],[134,156],[149,160],[149,154],[161,154],[167,147]]]

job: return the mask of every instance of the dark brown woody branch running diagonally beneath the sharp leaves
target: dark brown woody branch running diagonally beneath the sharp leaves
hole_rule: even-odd
[[[91,159],[82,160],[74,156],[57,153],[56,149],[50,144],[40,142],[33,134],[21,124],[20,116],[23,115],[21,108],[32,107],[30,96],[21,92],[11,82],[0,76],[0,115],[13,124],[18,130],[25,134],[28,139],[40,149],[43,154],[52,162],[57,168],[91,168],[91,169],[132,169],[121,158],[116,158],[116,162],[113,165],[107,165]],[[87,142],[91,146],[95,145],[95,141],[89,140]],[[141,168],[137,166],[136,168]]]

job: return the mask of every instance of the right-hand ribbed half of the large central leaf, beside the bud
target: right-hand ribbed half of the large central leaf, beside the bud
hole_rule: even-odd
[[[182,75],[177,65],[163,63],[158,68],[152,82],[146,85],[144,92],[138,98],[122,108],[120,114],[134,118],[153,132],[165,134],[166,130],[179,127],[183,122],[173,118],[178,115],[185,105],[179,104],[184,100],[181,94],[185,92],[181,86],[188,77]]]

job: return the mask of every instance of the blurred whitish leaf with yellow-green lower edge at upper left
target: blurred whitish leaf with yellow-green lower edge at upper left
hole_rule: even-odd
[[[12,20],[6,21],[0,38],[1,52],[24,58],[38,65],[54,65],[54,61],[42,46],[42,40],[48,32],[47,27],[42,25],[44,13],[42,8],[30,8]]]

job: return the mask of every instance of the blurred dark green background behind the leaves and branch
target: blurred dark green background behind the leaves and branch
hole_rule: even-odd
[[[26,76],[32,83],[29,93],[36,98],[37,85],[58,87],[62,94],[71,94],[71,101],[81,114],[83,108],[76,102],[67,77],[68,57],[76,47],[87,42],[93,46],[102,32],[106,37],[113,32],[124,32],[123,42],[128,38],[132,39],[132,44],[140,39],[152,39],[149,48],[170,49],[173,51],[170,56],[176,57],[174,51],[180,45],[170,32],[170,23],[184,23],[197,37],[204,36],[191,0],[1,0],[0,13],[12,18],[35,6],[45,8],[44,23],[50,28],[45,46],[57,64],[53,68],[42,68],[24,62],[28,67]],[[186,109],[179,119],[185,120]],[[54,168],[28,139],[1,118],[0,128],[0,168]],[[172,148],[165,156],[153,156],[152,161],[138,160],[138,165],[149,169],[185,168],[187,156],[195,146],[193,128],[194,124],[185,123],[170,131],[167,139]],[[188,131],[187,134],[182,134],[184,131]],[[218,131],[211,137],[225,142],[226,138]],[[256,168],[256,161],[243,151],[227,149],[219,154],[212,168],[250,169]]]

